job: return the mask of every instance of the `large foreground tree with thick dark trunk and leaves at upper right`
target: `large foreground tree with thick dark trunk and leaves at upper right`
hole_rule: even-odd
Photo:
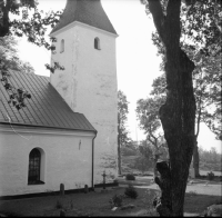
[[[215,51],[210,46],[218,40],[220,31],[214,22],[206,21],[213,18],[214,12],[208,9],[212,9],[212,6],[216,8],[218,1],[209,4],[208,1],[186,0],[185,6],[181,6],[181,0],[148,0],[144,3],[152,14],[158,36],[164,46],[165,57],[167,100],[160,107],[159,115],[169,147],[170,164],[157,165],[161,179],[157,178],[155,181],[162,192],[162,198],[157,202],[157,211],[160,216],[183,216],[189,167],[195,145],[195,98],[192,85],[194,63],[182,50],[181,33],[190,33],[195,39],[194,42],[200,43],[204,40],[203,53]],[[196,8],[201,9],[202,13],[194,13]],[[184,14],[181,11],[186,18],[181,17]],[[208,16],[204,13],[206,11]],[[199,17],[195,17],[196,14]],[[182,20],[188,20],[188,26],[182,26]],[[204,26],[200,28],[201,23]],[[198,33],[193,33],[193,30]],[[208,30],[212,33],[205,33]]]

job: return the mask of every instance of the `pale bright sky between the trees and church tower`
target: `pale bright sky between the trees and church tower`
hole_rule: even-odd
[[[39,8],[46,12],[61,10],[65,0],[39,0]],[[145,135],[139,128],[135,116],[137,101],[145,99],[151,91],[153,79],[162,75],[159,69],[161,58],[152,43],[151,33],[155,30],[152,18],[145,14],[140,0],[101,0],[102,7],[112,22],[119,37],[117,38],[117,75],[118,90],[123,91],[129,101],[127,128],[133,140],[143,140]],[[50,62],[50,53],[19,39],[20,58],[29,61],[37,75],[50,76],[44,65]],[[205,150],[215,147],[221,152],[221,141],[201,123],[199,145]]]

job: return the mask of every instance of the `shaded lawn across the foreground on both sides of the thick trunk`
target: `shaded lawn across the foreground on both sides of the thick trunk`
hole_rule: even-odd
[[[152,210],[152,199],[157,194],[155,190],[143,187],[135,188],[138,198],[123,198],[123,206],[133,205],[134,208],[121,210],[111,210],[109,199],[115,194],[124,194],[124,187],[109,188],[108,192],[101,192],[95,189],[89,194],[70,194],[63,197],[48,196],[17,200],[1,200],[0,214],[18,217],[37,217],[37,216],[56,216],[60,215],[60,210],[64,209],[65,216],[157,216]],[[220,196],[186,194],[184,211],[201,214],[212,204],[219,202]]]

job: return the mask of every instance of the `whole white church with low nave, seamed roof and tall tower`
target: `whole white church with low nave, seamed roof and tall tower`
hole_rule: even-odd
[[[51,66],[64,69],[10,77],[27,107],[0,82],[0,197],[93,189],[118,174],[118,33],[100,0],[68,0],[50,37]]]

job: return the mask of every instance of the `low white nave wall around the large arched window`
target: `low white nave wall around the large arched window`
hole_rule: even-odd
[[[60,184],[65,190],[91,187],[93,133],[21,127],[16,132],[0,127],[0,196],[56,191]],[[33,148],[44,152],[44,185],[28,185],[29,153]]]

